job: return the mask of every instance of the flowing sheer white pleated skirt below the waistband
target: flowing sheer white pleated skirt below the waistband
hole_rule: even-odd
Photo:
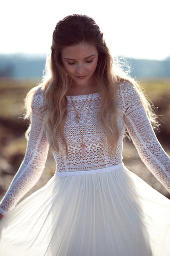
[[[168,256],[169,200],[122,164],[56,173],[0,222],[2,256]]]

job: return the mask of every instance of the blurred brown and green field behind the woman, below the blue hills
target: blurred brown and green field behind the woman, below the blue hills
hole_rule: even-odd
[[[30,79],[1,78],[0,87],[0,198],[7,190],[10,182],[18,170],[25,154],[27,141],[24,132],[28,123],[23,120],[24,98],[29,90],[37,85],[37,81]],[[163,148],[170,155],[169,127],[170,127],[170,78],[155,78],[139,80],[149,99],[157,108],[160,130],[156,132],[157,138]],[[148,171],[141,162],[137,150],[128,139],[124,140],[123,162],[129,169],[139,175],[150,186],[170,198],[167,190]],[[55,172],[55,162],[49,151],[43,175],[27,196],[45,185]]]

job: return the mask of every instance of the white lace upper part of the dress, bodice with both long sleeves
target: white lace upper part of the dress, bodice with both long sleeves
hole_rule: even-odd
[[[82,108],[80,117],[81,130],[86,122],[91,97],[92,95],[90,94],[82,108],[87,95],[73,96],[78,112]],[[120,116],[117,116],[120,138],[115,154],[108,154],[106,134],[100,125],[99,118],[97,118],[100,94],[94,93],[84,131],[86,153],[83,155],[77,114],[71,97],[67,96],[68,116],[64,134],[67,139],[68,156],[66,157],[64,149],[62,154],[54,153],[57,172],[94,171],[120,164],[122,162],[122,145],[126,125],[142,161],[167,190],[170,190],[169,157],[156,139],[134,87],[128,82],[120,84],[118,86],[117,99],[118,110],[124,117],[125,123]],[[43,92],[38,89],[32,101],[33,111],[27,151],[18,173],[16,173],[10,188],[2,200],[0,213],[3,215],[10,211],[19,199],[35,185],[44,169],[49,146],[44,116],[39,111],[39,108],[44,106],[44,103]],[[60,142],[60,147],[63,148],[60,134],[57,135],[57,138]],[[106,147],[104,147],[105,142]]]

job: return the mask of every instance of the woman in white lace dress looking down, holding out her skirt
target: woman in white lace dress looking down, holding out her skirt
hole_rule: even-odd
[[[168,255],[169,201],[122,163],[126,126],[142,161],[170,189],[170,161],[138,85],[112,69],[103,34],[85,15],[57,23],[49,62],[27,97],[28,147],[1,203],[0,252]],[[14,207],[39,179],[48,145],[54,177]]]

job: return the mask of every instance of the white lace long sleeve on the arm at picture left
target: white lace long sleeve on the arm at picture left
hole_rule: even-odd
[[[2,199],[0,213],[3,215],[35,185],[43,172],[48,153],[44,118],[40,111],[43,104],[43,92],[38,89],[32,100],[31,130],[27,150],[18,172]]]

